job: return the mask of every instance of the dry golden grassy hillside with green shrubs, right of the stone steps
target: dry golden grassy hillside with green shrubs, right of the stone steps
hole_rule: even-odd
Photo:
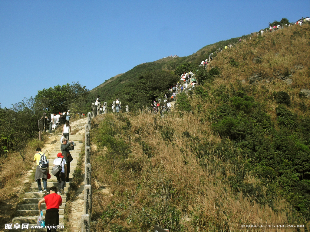
[[[310,231],[309,32],[294,25],[224,50],[209,67],[220,74],[165,117],[96,118],[93,230]]]

